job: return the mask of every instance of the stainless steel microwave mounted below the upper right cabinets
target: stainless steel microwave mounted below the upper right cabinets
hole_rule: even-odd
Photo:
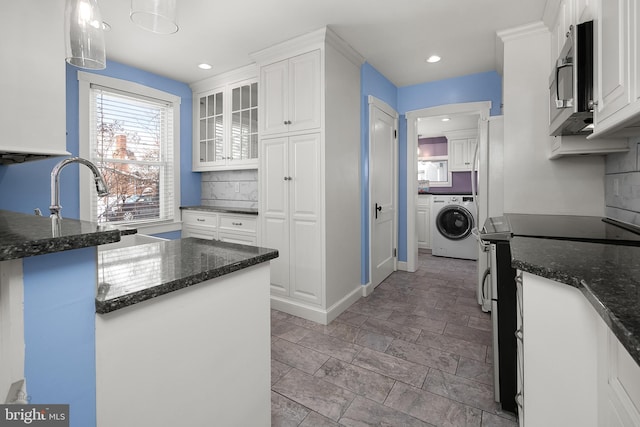
[[[572,25],[549,77],[550,135],[593,132],[593,21]]]

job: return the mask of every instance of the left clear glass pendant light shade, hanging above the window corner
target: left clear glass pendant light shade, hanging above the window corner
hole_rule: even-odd
[[[67,62],[80,68],[104,69],[104,30],[97,0],[67,0],[64,25]]]

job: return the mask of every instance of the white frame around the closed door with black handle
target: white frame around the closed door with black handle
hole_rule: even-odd
[[[373,193],[373,189],[372,189],[372,180],[370,179],[371,177],[371,135],[373,134],[373,122],[372,122],[372,117],[373,117],[373,109],[377,108],[379,110],[381,110],[382,112],[384,112],[385,114],[388,114],[389,116],[391,116],[393,118],[393,126],[395,128],[396,131],[396,137],[393,141],[393,151],[394,151],[394,161],[393,161],[393,165],[394,165],[394,169],[395,169],[395,183],[394,185],[392,185],[391,188],[393,188],[393,203],[395,206],[395,212],[393,215],[393,246],[396,249],[396,253],[394,256],[394,261],[393,261],[393,271],[396,271],[398,269],[398,184],[400,182],[399,180],[399,176],[398,176],[398,112],[396,110],[393,109],[393,107],[391,107],[389,104],[387,104],[386,102],[376,98],[375,96],[372,95],[368,95],[367,97],[367,101],[369,104],[369,123],[368,123],[368,141],[367,141],[367,150],[369,155],[367,156],[367,176],[369,177],[369,185],[368,185],[368,203],[367,203],[367,216],[368,216],[368,225],[369,225],[369,239],[368,239],[368,243],[369,243],[369,248],[368,248],[368,257],[369,257],[369,280],[368,280],[368,284],[364,289],[363,295],[367,296],[369,294],[371,294],[373,292],[374,287],[372,286],[372,277],[373,277],[373,256],[372,256],[372,252],[373,252],[373,220],[372,220],[372,213],[371,213],[371,209],[372,209],[372,205],[371,205],[371,195]]]

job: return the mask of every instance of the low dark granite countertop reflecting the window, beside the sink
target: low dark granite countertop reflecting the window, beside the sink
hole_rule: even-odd
[[[278,257],[278,251],[193,237],[98,253],[96,312],[109,313]]]

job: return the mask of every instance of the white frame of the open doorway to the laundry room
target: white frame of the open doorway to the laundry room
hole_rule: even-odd
[[[443,115],[478,114],[480,120],[486,121],[489,118],[490,111],[491,101],[481,101],[422,108],[420,110],[407,111],[405,114],[407,119],[407,271],[415,272],[418,262],[418,238],[416,234],[418,120]]]

